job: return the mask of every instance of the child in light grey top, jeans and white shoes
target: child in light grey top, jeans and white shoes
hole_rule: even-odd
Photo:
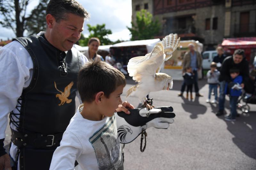
[[[206,74],[207,82],[209,84],[209,95],[208,95],[208,99],[206,100],[206,102],[207,103],[210,102],[211,94],[212,94],[212,90],[213,90],[215,99],[212,100],[212,103],[216,103],[217,99],[218,99],[217,89],[218,89],[218,84],[219,84],[220,71],[217,70],[217,64],[214,62],[211,63],[210,68],[211,68],[211,70],[209,70]]]

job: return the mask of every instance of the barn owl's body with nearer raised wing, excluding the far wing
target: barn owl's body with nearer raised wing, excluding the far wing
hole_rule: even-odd
[[[129,97],[135,92],[141,103],[144,103],[148,109],[152,109],[146,103],[149,92],[157,92],[160,90],[169,90],[172,88],[172,77],[165,73],[156,73],[165,58],[164,46],[162,43],[157,43],[152,52],[145,56],[133,57],[129,60],[127,70],[129,76],[138,82],[126,92],[126,97]]]

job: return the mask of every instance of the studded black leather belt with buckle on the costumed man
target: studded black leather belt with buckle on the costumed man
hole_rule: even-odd
[[[25,133],[11,129],[11,141],[19,148],[56,148],[60,146],[63,133],[57,134],[41,134],[41,133]]]

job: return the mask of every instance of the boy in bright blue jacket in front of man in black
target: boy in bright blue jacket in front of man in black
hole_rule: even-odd
[[[238,97],[242,93],[242,87],[240,86],[243,77],[239,76],[239,69],[230,69],[230,77],[231,81],[229,83],[226,83],[225,86],[225,93],[229,93],[229,106],[230,106],[230,115],[225,115],[225,120],[227,121],[235,121],[236,120],[236,104]]]

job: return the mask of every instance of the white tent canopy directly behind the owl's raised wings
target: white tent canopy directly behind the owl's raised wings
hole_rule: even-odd
[[[150,53],[154,46],[160,42],[160,39],[152,39],[152,40],[137,40],[137,41],[125,41],[114,44],[112,47],[128,47],[128,46],[142,46],[146,45],[148,53]]]

